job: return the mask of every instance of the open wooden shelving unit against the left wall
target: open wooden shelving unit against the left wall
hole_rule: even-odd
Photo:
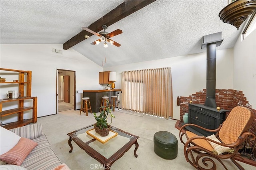
[[[1,118],[1,126],[6,129],[16,128],[16,127],[22,127],[25,125],[28,125],[30,123],[36,123],[37,122],[37,97],[31,97],[31,77],[32,77],[32,71],[22,71],[22,70],[14,70],[14,69],[4,69],[0,68],[0,70],[6,71],[6,72],[18,72],[19,73],[19,79],[18,82],[0,82],[1,84],[17,84],[19,86],[19,93],[20,97],[16,99],[0,99],[0,118]],[[5,72],[5,73],[6,73]],[[25,79],[26,75],[26,79]],[[26,96],[24,96],[24,88],[26,84]],[[24,107],[24,101],[25,100],[32,100],[33,105],[30,107]],[[4,103],[9,102],[18,102],[18,108],[15,109],[8,109],[8,110],[2,110],[4,108]],[[32,119],[23,119],[24,111],[32,110]],[[18,121],[9,123],[7,125],[2,125],[2,117],[6,117],[8,115],[18,114]]]

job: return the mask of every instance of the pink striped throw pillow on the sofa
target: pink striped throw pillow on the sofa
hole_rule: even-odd
[[[11,150],[0,156],[0,159],[8,164],[20,166],[37,145],[33,140],[20,138],[19,142]]]

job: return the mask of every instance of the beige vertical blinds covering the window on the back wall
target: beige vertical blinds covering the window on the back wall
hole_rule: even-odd
[[[122,72],[122,109],[169,119],[173,115],[171,68]]]

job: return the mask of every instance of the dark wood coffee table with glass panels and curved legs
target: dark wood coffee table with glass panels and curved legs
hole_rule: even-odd
[[[133,144],[135,144],[134,156],[137,158],[136,151],[138,150],[139,144],[137,139],[139,136],[135,136],[128,132],[125,132],[119,128],[110,126],[113,132],[118,133],[114,138],[109,139],[107,142],[100,142],[86,132],[93,129],[93,124],[84,128],[75,130],[74,132],[68,133],[69,140],[68,145],[70,146],[69,153],[72,152],[72,140],[92,158],[98,160],[102,164],[102,168],[110,170],[111,165],[121,158],[125,152],[127,152]]]

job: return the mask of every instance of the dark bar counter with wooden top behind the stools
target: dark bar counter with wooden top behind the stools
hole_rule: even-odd
[[[118,92],[120,91],[120,92]],[[112,90],[83,90],[83,97],[90,97],[90,105],[92,112],[99,112],[101,101],[103,96],[109,97],[109,103],[111,102],[111,96],[117,95],[117,93],[122,93],[122,89],[112,89]]]

